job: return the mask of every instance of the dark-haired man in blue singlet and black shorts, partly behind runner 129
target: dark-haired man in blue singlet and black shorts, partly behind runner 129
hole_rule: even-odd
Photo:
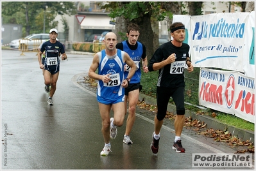
[[[136,71],[130,80],[128,87],[124,89],[124,105],[125,108],[128,106],[128,117],[126,119],[126,130],[124,133],[124,144],[133,144],[130,133],[132,131],[132,126],[135,123],[135,108],[139,101],[139,91],[142,90],[141,85],[141,69],[144,73],[148,72],[148,59],[146,56],[146,47],[141,42],[137,41],[139,38],[140,27],[135,23],[130,23],[127,27],[127,40],[117,43],[116,48],[123,50],[129,54],[130,58],[135,63]],[[142,67],[141,67],[142,64]],[[130,67],[124,65],[124,77],[130,72]],[[128,101],[129,99],[129,101]]]

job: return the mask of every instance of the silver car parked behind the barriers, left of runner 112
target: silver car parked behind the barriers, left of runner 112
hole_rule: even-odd
[[[26,39],[26,40],[24,40]],[[11,48],[19,48],[19,41],[21,40],[21,43],[24,43],[26,45],[28,45],[28,49],[33,49],[33,44],[34,44],[34,40],[42,40],[42,41],[46,41],[49,40],[49,33],[40,33],[40,34],[30,34],[28,36],[26,36],[25,38],[21,38],[21,39],[16,39],[16,40],[12,40],[10,42],[10,47]],[[40,45],[40,43],[39,43]]]

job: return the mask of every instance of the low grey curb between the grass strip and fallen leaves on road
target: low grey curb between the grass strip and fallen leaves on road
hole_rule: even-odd
[[[157,100],[155,98],[152,98],[150,96],[146,96],[145,94],[141,94],[139,96],[140,101],[145,101],[148,104],[151,105],[157,105]],[[168,112],[176,112],[175,105],[172,105],[171,103],[167,107]],[[241,138],[242,140],[250,140],[250,142],[254,143],[254,132],[248,131],[248,130],[241,130],[239,128],[235,128],[234,126],[230,126],[228,124],[224,124],[219,122],[218,120],[214,119],[213,117],[210,117],[209,115],[197,115],[194,112],[191,112],[190,110],[185,110],[185,116],[189,117],[191,116],[192,119],[198,119],[199,121],[204,121],[207,123],[207,128],[212,128],[214,130],[227,130],[232,133],[232,135],[235,135],[238,138]]]

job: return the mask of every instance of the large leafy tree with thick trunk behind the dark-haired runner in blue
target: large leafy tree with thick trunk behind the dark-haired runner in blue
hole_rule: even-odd
[[[130,22],[134,22],[140,27],[139,41],[147,47],[147,56],[151,58],[155,51],[153,40],[158,42],[158,33],[154,33],[152,25],[166,19],[172,18],[173,13],[165,9],[165,4],[169,2],[108,2],[101,8],[110,11],[109,16],[116,19],[116,33],[123,38],[126,28]],[[155,23],[155,24],[152,24]],[[155,30],[155,29],[154,29]],[[121,40],[122,41],[122,40]]]

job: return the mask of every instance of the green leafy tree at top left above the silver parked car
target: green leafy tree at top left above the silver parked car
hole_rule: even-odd
[[[36,1],[23,1],[23,2],[3,2],[2,3],[2,15],[13,16],[15,13],[21,12],[24,13],[24,19],[15,20],[17,24],[22,24],[25,27],[26,35],[30,34],[30,31],[43,31],[43,27],[38,27],[35,24],[35,20],[39,13],[42,13],[42,10],[46,10],[46,7],[49,8],[51,16],[53,18],[56,15],[74,15],[77,13],[76,6],[73,2],[36,2]],[[14,20],[13,20],[14,21]],[[51,20],[52,21],[52,20]],[[41,20],[43,22],[43,20]],[[52,24],[52,23],[49,23]]]

